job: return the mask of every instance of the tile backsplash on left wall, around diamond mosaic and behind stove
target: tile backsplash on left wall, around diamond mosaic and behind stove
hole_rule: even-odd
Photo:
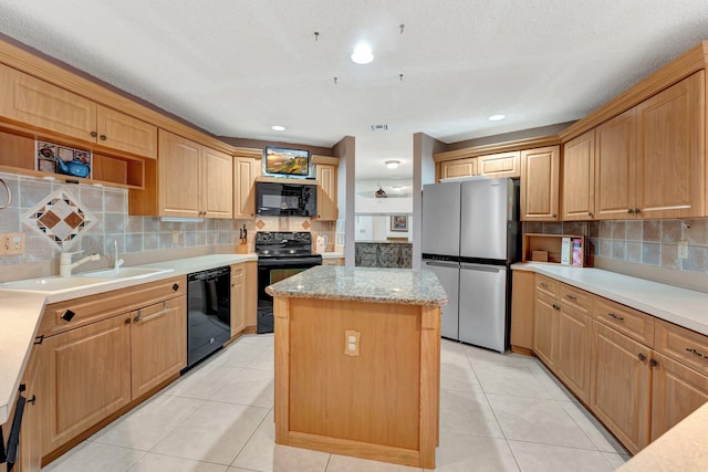
[[[28,227],[27,216],[54,192],[66,190],[75,198],[75,203],[95,218],[92,228],[76,235],[77,242],[71,251],[98,252],[106,254],[113,263],[114,242],[119,253],[146,253],[181,248],[201,248],[207,251],[217,247],[236,244],[239,228],[246,224],[249,250],[253,250],[256,231],[311,231],[313,235],[326,234],[334,244],[335,222],[312,221],[306,218],[263,217],[252,220],[215,220],[202,222],[164,222],[157,217],[128,216],[127,190],[94,185],[66,185],[51,179],[17,176],[0,172],[12,195],[9,207],[0,210],[0,232],[24,232],[25,253],[23,255],[0,256],[0,266],[58,259],[61,249],[45,234]],[[0,191],[0,207],[4,206],[4,192]],[[258,227],[257,227],[258,224]],[[314,239],[314,238],[313,238]],[[332,248],[331,248],[332,249]]]

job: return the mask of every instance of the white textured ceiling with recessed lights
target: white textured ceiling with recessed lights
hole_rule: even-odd
[[[708,1],[0,0],[0,33],[215,135],[354,136],[357,178],[409,178],[414,133],[577,119],[708,39]]]

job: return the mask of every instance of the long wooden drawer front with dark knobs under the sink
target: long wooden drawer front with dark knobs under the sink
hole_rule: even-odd
[[[183,275],[53,303],[44,308],[38,333],[52,336],[186,293],[187,281]]]

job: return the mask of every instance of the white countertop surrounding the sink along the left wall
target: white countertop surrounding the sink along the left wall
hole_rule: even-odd
[[[176,275],[230,265],[246,261],[257,261],[256,254],[210,254],[197,258],[163,261],[136,268],[170,269],[156,275],[140,279],[117,280],[94,286],[83,286],[56,292],[24,292],[0,289],[0,424],[8,420],[27,367],[30,350],[45,304],[96,295],[127,286],[155,282]]]

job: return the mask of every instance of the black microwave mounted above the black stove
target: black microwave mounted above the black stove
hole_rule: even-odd
[[[317,186],[312,183],[256,182],[256,213],[279,217],[314,217]]]

